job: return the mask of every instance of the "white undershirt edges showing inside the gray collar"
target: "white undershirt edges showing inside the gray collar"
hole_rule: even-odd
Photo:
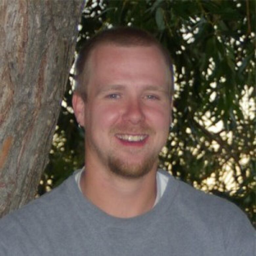
[[[75,174],[75,181],[76,181],[77,186],[81,192],[82,192],[82,190],[80,187],[80,179],[81,179],[81,174],[83,171],[84,171],[84,167],[79,172],[77,172]],[[168,182],[168,177],[160,172],[157,172],[157,197],[156,197],[154,206],[159,202],[160,198],[162,197],[164,190],[166,188],[167,182]]]

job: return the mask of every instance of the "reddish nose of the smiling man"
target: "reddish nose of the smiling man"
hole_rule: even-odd
[[[132,124],[138,124],[144,120],[145,116],[142,103],[139,99],[133,99],[126,102],[125,111],[122,118],[124,121],[128,121]]]

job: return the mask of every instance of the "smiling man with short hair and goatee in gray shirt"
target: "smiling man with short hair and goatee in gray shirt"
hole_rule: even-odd
[[[157,171],[173,94],[160,44],[138,29],[103,31],[76,73],[85,167],[2,219],[0,255],[255,255],[241,210]]]

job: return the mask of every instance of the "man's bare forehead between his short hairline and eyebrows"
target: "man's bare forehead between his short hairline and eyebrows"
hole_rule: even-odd
[[[91,53],[91,79],[149,80],[165,83],[167,65],[156,46],[100,45]]]

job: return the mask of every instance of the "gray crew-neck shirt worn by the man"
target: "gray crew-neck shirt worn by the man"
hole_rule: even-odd
[[[169,178],[148,213],[115,218],[84,198],[74,175],[0,220],[0,255],[254,256],[255,230],[232,203]]]

